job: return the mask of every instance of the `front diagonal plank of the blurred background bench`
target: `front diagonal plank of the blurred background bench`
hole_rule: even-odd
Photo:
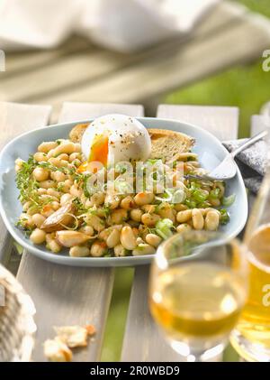
[[[270,26],[270,22],[266,23]],[[51,102],[56,108],[63,98],[112,103],[144,102],[239,62],[256,59],[269,47],[269,43],[270,33],[248,17],[226,31],[208,35],[204,40],[175,42],[165,54],[157,51],[151,59],[115,71],[91,85],[85,82],[80,87],[41,96],[39,100]]]

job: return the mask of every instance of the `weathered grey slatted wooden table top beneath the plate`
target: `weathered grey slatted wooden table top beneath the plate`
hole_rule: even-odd
[[[142,116],[143,107],[121,104],[66,103],[58,120],[61,122],[91,118],[112,112]],[[47,125],[51,108],[0,103],[1,137],[3,146],[16,134],[37,126]],[[211,131],[220,139],[238,135],[236,107],[158,107],[157,116],[192,122]],[[256,133],[256,127],[253,133]],[[0,252],[8,264],[13,247],[1,221]],[[4,232],[5,231],[5,232]],[[112,286],[113,268],[77,268],[51,264],[27,252],[23,253],[18,279],[35,302],[38,332],[33,360],[43,361],[42,343],[53,334],[53,326],[91,322],[97,329],[94,343],[76,354],[76,361],[99,360],[103,344]],[[130,307],[123,340],[122,361],[179,361],[157,332],[148,312],[148,265],[135,269],[130,295]]]

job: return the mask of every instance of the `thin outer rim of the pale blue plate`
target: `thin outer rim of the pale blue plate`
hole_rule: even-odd
[[[220,145],[220,148],[222,149],[223,153],[225,155],[228,155],[229,152],[227,149],[222,145],[220,140],[214,135],[211,134],[211,132],[207,131],[204,129],[202,126],[199,125],[194,125],[192,123],[186,123],[181,120],[176,120],[174,118],[163,118],[163,117],[148,117],[148,116],[141,116],[141,117],[136,117],[133,116],[134,118],[138,119],[139,121],[143,122],[144,120],[148,121],[161,121],[161,122],[170,122],[170,123],[175,123],[185,125],[187,127],[192,127],[194,130],[199,131],[199,133],[206,134],[211,136],[211,139],[214,139],[216,144]],[[82,120],[74,120],[74,121],[69,121],[65,123],[56,123],[56,124],[51,124],[51,125],[45,125],[41,127],[37,127],[34,129],[31,129],[31,131],[24,132],[23,134],[19,134],[15,136],[10,142],[4,145],[4,148],[0,152],[0,175],[2,176],[4,174],[3,170],[3,158],[5,152],[7,152],[10,149],[10,146],[15,144],[17,141],[19,141],[22,137],[27,136],[28,134],[33,134],[36,132],[41,132],[43,130],[47,130],[47,128],[50,127],[65,127],[65,126],[70,126],[70,125],[76,125],[76,124],[86,124],[86,123],[91,123],[95,117],[87,118],[87,119],[82,119]],[[146,126],[147,127],[147,126]],[[153,126],[152,126],[153,127]],[[159,128],[157,128],[159,129]],[[164,127],[163,129],[167,129]],[[181,131],[178,131],[181,133]],[[184,133],[184,132],[183,132]],[[238,236],[238,234],[241,232],[243,227],[245,227],[246,222],[247,222],[247,212],[248,212],[248,204],[247,204],[247,191],[246,187],[241,175],[241,172],[238,169],[237,165],[237,177],[238,177],[238,184],[240,186],[241,191],[245,194],[244,197],[244,207],[242,209],[242,218],[241,218],[241,223],[238,225],[238,228],[235,230],[235,232],[231,232],[227,236],[227,240],[230,240],[233,237]],[[3,199],[2,196],[0,196],[0,215],[3,218],[4,225],[7,228],[8,232],[11,234],[11,236],[14,237],[14,240],[17,241],[21,246],[23,246],[24,249],[26,249],[28,252],[30,252],[32,255],[35,255],[43,260],[53,262],[55,264],[65,264],[65,265],[70,265],[70,266],[87,266],[87,267],[115,267],[115,266],[136,266],[139,264],[150,264],[152,261],[154,255],[142,255],[142,256],[125,256],[125,257],[70,257],[70,256],[64,256],[64,255],[58,255],[58,254],[50,254],[48,252],[45,252],[41,250],[40,248],[36,246],[31,246],[30,244],[26,243],[21,236],[17,235],[13,224],[10,222],[9,218],[7,218],[4,206],[3,206]],[[134,262],[134,263],[133,263]],[[117,263],[117,264],[116,264]]]

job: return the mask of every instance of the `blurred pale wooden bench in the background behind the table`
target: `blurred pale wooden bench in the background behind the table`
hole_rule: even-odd
[[[257,60],[269,46],[266,17],[222,1],[191,34],[133,54],[75,37],[55,50],[6,53],[0,100],[52,105],[53,121],[63,100],[142,103],[149,113],[169,91]]]

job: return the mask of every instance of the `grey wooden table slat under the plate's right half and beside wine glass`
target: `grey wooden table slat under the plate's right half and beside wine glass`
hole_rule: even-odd
[[[172,115],[173,112],[173,115]],[[190,123],[202,125],[207,129],[217,125],[218,135],[234,138],[238,125],[238,112],[235,108],[220,107],[170,107],[158,108],[157,116],[188,120]],[[209,123],[207,123],[209,118]],[[199,120],[202,120],[200,124]],[[231,125],[231,129],[229,126]],[[221,132],[220,128],[227,128]],[[200,144],[198,142],[198,144]],[[139,266],[135,270],[133,286],[130,295],[130,307],[123,341],[122,361],[179,361],[175,351],[168,346],[165,339],[157,331],[148,310],[148,266]]]

